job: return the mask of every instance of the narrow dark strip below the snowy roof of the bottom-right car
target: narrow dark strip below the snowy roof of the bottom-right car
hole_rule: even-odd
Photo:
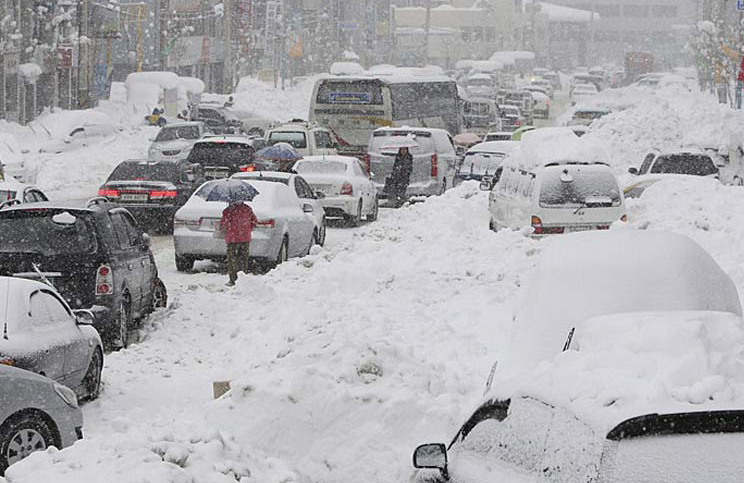
[[[607,433],[607,439],[716,433],[744,433],[744,410],[646,414],[618,424]]]

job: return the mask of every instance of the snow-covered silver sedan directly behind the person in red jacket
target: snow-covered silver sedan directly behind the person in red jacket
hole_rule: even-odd
[[[225,180],[207,181],[176,212],[173,242],[176,268],[191,270],[196,260],[225,260],[227,245],[219,236],[222,212],[229,192],[220,188]],[[258,195],[249,202],[258,218],[249,248],[250,257],[277,265],[292,257],[305,256],[315,242],[315,223],[297,203],[297,195],[282,183],[234,180],[253,186]],[[310,207],[312,209],[312,207]]]

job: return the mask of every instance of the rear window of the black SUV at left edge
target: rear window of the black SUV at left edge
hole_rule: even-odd
[[[23,252],[49,257],[95,251],[93,229],[80,214],[33,210],[0,217],[0,253]]]

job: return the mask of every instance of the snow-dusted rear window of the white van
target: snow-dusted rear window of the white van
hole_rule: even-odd
[[[545,168],[540,188],[540,206],[619,206],[620,189],[609,170],[593,167]]]

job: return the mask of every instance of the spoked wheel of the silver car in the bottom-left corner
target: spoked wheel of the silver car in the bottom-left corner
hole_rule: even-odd
[[[54,446],[52,434],[49,426],[33,414],[12,417],[3,423],[0,426],[0,475],[31,453]]]

